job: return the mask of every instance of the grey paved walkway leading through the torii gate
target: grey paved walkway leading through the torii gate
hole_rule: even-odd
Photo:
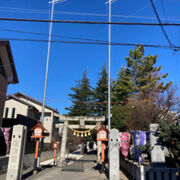
[[[84,172],[61,171],[59,166],[54,167],[53,160],[48,160],[43,163],[42,170],[33,175],[32,168],[23,171],[23,180],[107,180],[105,174],[100,174],[96,170],[96,154],[89,153],[82,156],[78,152],[74,152],[68,156],[69,158],[81,159],[84,162]],[[0,180],[5,180],[5,174],[0,175]],[[128,180],[127,177],[120,171],[120,180]]]

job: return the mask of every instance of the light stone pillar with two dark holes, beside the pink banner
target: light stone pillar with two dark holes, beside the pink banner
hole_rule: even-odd
[[[119,131],[111,129],[109,138],[109,180],[119,180]]]

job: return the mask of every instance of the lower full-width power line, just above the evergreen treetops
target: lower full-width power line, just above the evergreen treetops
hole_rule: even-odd
[[[21,38],[0,38],[1,40],[12,40],[12,41],[29,41],[29,42],[42,42],[47,43],[48,40],[44,39],[21,39]],[[61,44],[84,44],[84,45],[108,45],[108,42],[88,42],[88,41],[59,41],[59,40],[51,40],[52,43],[61,43]],[[168,45],[157,45],[157,44],[143,44],[143,43],[119,43],[119,42],[111,42],[113,46],[137,46],[142,45],[144,47],[152,47],[152,48],[163,48],[163,49],[171,49],[174,51],[179,51],[180,46],[168,46]]]

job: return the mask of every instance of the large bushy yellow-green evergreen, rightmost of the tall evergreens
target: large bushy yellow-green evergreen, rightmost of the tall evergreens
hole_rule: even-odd
[[[121,68],[119,77],[114,83],[114,94],[118,100],[131,96],[147,98],[149,93],[163,92],[172,82],[164,85],[162,79],[168,74],[160,75],[161,66],[156,67],[157,56],[144,56],[144,47],[136,46],[126,57],[127,65]]]

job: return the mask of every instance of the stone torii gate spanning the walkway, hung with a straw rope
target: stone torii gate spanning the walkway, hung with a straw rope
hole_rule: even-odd
[[[64,121],[63,132],[62,132],[62,140],[61,140],[61,154],[60,154],[60,162],[65,159],[65,150],[67,143],[67,130],[68,127],[71,129],[99,129],[101,123],[105,121],[105,116],[99,117],[90,117],[90,116],[64,116],[60,115],[60,120]],[[69,124],[68,121],[79,121],[79,124]],[[96,125],[86,125],[86,121],[96,122]],[[88,130],[87,130],[88,132]],[[97,161],[100,160],[101,153],[101,141],[97,142]]]

